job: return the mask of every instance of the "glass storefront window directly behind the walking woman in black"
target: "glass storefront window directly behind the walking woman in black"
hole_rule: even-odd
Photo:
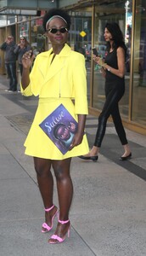
[[[128,16],[126,4],[128,2]],[[129,20],[132,17],[132,1],[116,1],[113,3],[104,4],[100,7],[95,8],[95,24],[94,24],[94,46],[98,50],[98,54],[103,58],[106,55],[106,44],[104,42],[104,27],[107,22],[116,22],[121,27],[123,36],[126,41],[127,48],[131,47],[131,30],[129,29]],[[132,22],[130,23],[132,28]],[[129,45],[129,46],[128,46]],[[93,64],[93,108],[101,110],[104,106],[104,78],[100,73],[97,65]],[[129,106],[129,84],[130,84],[130,70],[126,70],[126,92],[125,96],[122,97],[119,104],[122,116],[128,119],[128,106]]]

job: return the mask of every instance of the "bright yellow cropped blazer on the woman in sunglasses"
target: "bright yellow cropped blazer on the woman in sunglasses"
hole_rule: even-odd
[[[68,44],[56,55],[50,65],[53,49],[36,56],[30,74],[31,83],[23,90],[25,96],[75,99],[75,113],[87,114],[87,78],[85,58],[70,49]],[[49,73],[48,73],[49,66]],[[42,90],[42,88],[46,90]]]

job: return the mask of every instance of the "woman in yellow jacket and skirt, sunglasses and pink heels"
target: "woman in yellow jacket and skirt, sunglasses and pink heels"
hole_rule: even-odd
[[[87,115],[87,79],[84,56],[66,44],[70,29],[70,15],[62,9],[51,9],[43,18],[52,48],[36,56],[31,51],[23,55],[21,92],[24,96],[39,96],[38,108],[25,140],[25,154],[34,157],[34,166],[42,201],[45,223],[42,232],[53,228],[53,218],[59,221],[49,243],[59,243],[70,234],[69,211],[73,195],[70,177],[71,158],[87,154],[88,144],[84,131]],[[72,101],[74,100],[74,102]],[[42,131],[40,124],[49,114],[63,104],[78,123],[77,131],[66,154],[62,154],[52,140]],[[53,175],[56,177],[59,210],[53,205]]]

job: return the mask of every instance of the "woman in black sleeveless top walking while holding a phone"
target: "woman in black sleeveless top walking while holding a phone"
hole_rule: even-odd
[[[132,157],[131,150],[126,140],[126,132],[121,122],[118,103],[125,92],[125,58],[126,45],[123,40],[121,29],[117,23],[107,23],[104,30],[104,38],[107,42],[107,55],[105,61],[99,56],[93,55],[93,61],[98,63],[105,77],[104,108],[98,117],[98,131],[96,133],[93,148],[86,155],[81,155],[83,160],[98,160],[98,151],[104,138],[106,123],[110,114],[115,130],[124,147],[124,154],[120,160],[128,160]]]

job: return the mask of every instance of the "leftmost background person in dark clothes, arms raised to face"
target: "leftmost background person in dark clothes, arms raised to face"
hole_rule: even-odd
[[[0,46],[0,49],[5,51],[4,61],[7,69],[9,88],[8,91],[17,91],[17,75],[16,75],[16,55],[14,48],[16,44],[13,36],[8,36],[5,42]]]

